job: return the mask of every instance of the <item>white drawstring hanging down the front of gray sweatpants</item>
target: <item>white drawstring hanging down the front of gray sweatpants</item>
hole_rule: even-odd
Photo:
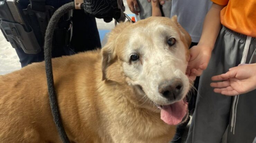
[[[245,42],[245,48],[244,48],[244,52],[243,52],[243,56],[241,59],[241,64],[245,64],[246,63],[246,58],[247,58],[247,54],[248,54],[248,50],[249,50],[249,46],[251,43],[252,37],[247,36],[246,38],[246,42]],[[239,99],[239,95],[236,95],[232,104],[232,118],[231,118],[231,130],[230,132],[232,132],[233,130],[233,134],[235,134],[235,126],[236,126],[236,111],[237,111],[237,103],[238,103],[238,99]],[[234,127],[234,128],[233,128]]]

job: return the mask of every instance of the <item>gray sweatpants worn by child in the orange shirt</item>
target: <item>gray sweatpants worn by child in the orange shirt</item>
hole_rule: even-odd
[[[244,53],[245,43],[249,44]],[[222,27],[207,69],[200,77],[198,98],[186,143],[252,143],[256,136],[256,90],[239,96],[213,92],[211,77],[241,63],[256,63],[256,38]]]

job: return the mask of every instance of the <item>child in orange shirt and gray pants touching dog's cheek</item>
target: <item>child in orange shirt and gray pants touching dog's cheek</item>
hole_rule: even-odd
[[[186,143],[219,143],[226,129],[228,143],[251,143],[256,135],[256,90],[245,90],[245,94],[238,92],[236,94],[241,95],[233,97],[223,96],[213,92],[210,82],[212,76],[225,73],[239,64],[249,63],[252,65],[251,70],[254,67],[256,1],[212,2],[214,4],[205,17],[199,44],[190,50],[187,74],[190,78],[203,74],[200,77],[199,96]],[[238,66],[232,70],[242,67],[247,68]],[[248,76],[248,73],[244,74]],[[212,79],[216,80],[216,77]],[[230,80],[232,78],[229,78],[229,82]],[[228,84],[227,81],[225,84]],[[222,87],[225,88],[225,85],[220,86]],[[242,88],[240,86],[239,90]],[[219,89],[214,89],[216,90]],[[225,90],[232,91],[232,88]]]

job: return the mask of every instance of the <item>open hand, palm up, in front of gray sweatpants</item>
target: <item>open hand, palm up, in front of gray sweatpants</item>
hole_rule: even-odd
[[[227,96],[247,93],[256,89],[256,63],[240,64],[230,68],[227,73],[213,76],[211,79],[213,81],[223,80],[210,84],[216,93]]]

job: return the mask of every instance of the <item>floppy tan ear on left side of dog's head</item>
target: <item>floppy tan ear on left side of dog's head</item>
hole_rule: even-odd
[[[115,59],[116,57],[116,53],[115,53],[115,46],[118,42],[118,37],[120,35],[120,33],[130,24],[132,24],[131,22],[124,22],[121,24],[118,24],[116,26],[115,29],[113,29],[109,35],[108,35],[108,42],[107,44],[101,49],[101,57],[102,57],[102,80],[105,80],[106,77],[106,70],[109,66],[109,64],[111,63],[111,61],[113,59]]]

